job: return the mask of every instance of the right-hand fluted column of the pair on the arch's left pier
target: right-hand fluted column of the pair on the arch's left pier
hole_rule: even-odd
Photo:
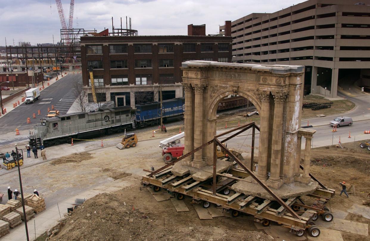
[[[200,147],[203,143],[203,91],[205,84],[195,84],[195,102],[194,102],[194,149]],[[194,153],[193,167],[203,167],[206,163],[203,162],[202,150]]]

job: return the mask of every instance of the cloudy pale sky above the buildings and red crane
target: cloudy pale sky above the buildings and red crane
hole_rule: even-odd
[[[303,0],[75,0],[73,27],[102,31],[120,27],[120,17],[131,17],[139,35],[186,35],[187,25],[206,24],[206,34],[215,34],[225,20],[250,13],[272,13]],[[70,0],[62,0],[68,25]],[[51,8],[50,8],[51,5]],[[19,41],[60,41],[60,19],[55,0],[0,0],[0,46]],[[122,23],[122,27],[125,23]]]

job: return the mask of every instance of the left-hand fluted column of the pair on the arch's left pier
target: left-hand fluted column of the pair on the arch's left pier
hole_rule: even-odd
[[[189,153],[194,147],[194,98],[193,98],[193,87],[191,84],[182,83],[185,90],[185,149],[184,154]],[[189,162],[193,160],[193,156],[184,158],[183,162]],[[186,163],[184,163],[186,164]],[[186,164],[188,165],[188,164]]]

